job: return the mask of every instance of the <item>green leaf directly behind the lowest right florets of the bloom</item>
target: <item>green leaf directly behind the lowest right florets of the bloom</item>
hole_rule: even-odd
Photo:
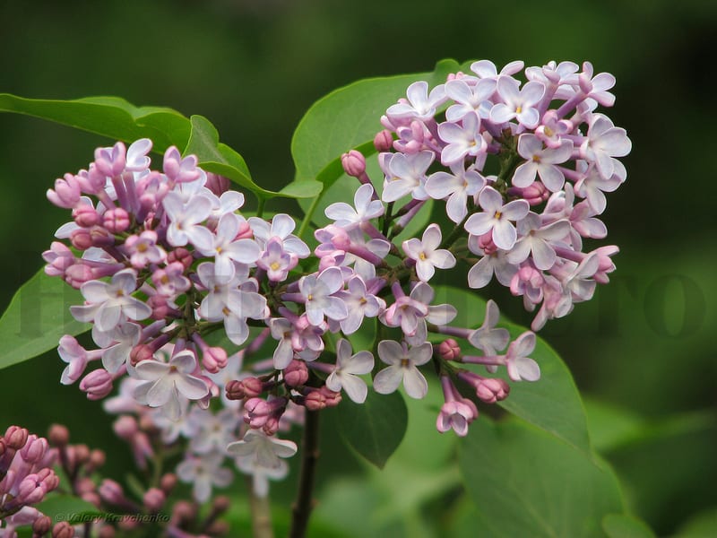
[[[486,301],[474,291],[464,291],[449,286],[436,286],[434,304],[448,303],[458,309],[458,317],[453,325],[479,327],[486,312]],[[511,338],[516,338],[528,329],[503,321],[498,324],[508,329]],[[434,342],[445,339],[442,335],[431,338]],[[476,350],[464,343],[464,350]],[[549,431],[557,438],[589,454],[591,451],[587,420],[573,376],[566,364],[540,336],[536,339],[535,351],[531,358],[540,365],[540,380],[535,382],[508,381],[510,395],[499,403],[506,411],[542,430]],[[499,370],[501,377],[507,380],[505,369]]]

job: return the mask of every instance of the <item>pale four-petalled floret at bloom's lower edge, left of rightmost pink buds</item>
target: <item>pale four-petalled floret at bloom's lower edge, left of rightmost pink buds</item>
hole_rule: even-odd
[[[430,343],[422,343],[409,350],[405,343],[382,340],[378,343],[378,356],[389,367],[374,377],[374,390],[377,393],[393,393],[403,384],[406,394],[411,398],[421,399],[428,394],[428,381],[417,367],[431,360],[433,346]]]

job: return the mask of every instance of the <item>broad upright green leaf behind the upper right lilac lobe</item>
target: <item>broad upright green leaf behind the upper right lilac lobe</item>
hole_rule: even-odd
[[[291,139],[296,179],[317,179],[326,188],[343,175],[341,154],[358,149],[368,156],[376,149],[374,136],[383,127],[381,116],[411,82],[427,81],[433,87],[461,68],[454,60],[442,60],[430,73],[371,78],[344,86],[317,100],[301,118]]]

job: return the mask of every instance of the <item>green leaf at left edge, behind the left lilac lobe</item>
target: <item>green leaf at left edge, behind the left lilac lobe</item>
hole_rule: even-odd
[[[36,273],[15,293],[0,317],[0,369],[57,346],[64,334],[80,334],[90,325],[75,321],[71,305],[81,305],[82,295],[62,279]]]

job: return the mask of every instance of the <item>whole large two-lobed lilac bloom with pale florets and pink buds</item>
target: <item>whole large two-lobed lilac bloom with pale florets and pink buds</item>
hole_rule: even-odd
[[[525,69],[521,88],[513,75],[522,69],[514,62],[497,73],[483,61],[430,92],[427,82],[411,84],[376,134],[380,194],[364,156],[343,155],[360,186],[353,205],[326,208],[332,223],[315,230],[313,251],[288,214],[239,213],[244,196],[194,156],[171,147],[160,171],[151,169],[149,140],[99,148],[87,170],[48,191],[73,221],[56,232],[69,244],[56,241],[44,253],[46,272],[82,292],[85,303],[71,311],[93,324],[98,346],[64,336],[62,382],[82,378],[82,391],[102,399],[120,381],[107,402],[123,415],[118,435],[140,465],[156,449],[151,435],[186,438],[177,476],[194,484],[200,501],[229,484],[222,465],[232,457],[265,494],[268,479],[287,473],[283,458],[297,451],[279,432],[300,423],[305,409],[339,404],[342,394],[365,402],[369,374],[379,394],[403,386],[423,398],[428,380],[419,367],[433,360],[445,395],[436,427],[465,435],[478,417],[475,403],[495,403],[509,386],[454,363],[488,373],[505,366],[511,380],[535,381],[535,335],[510,342],[493,301],[479,329],[449,325],[458,312],[434,304],[436,270],[468,262],[471,288],[495,274],[526,308],[540,306],[538,330],[608,282],[618,251],[583,252],[583,239],[607,233],[596,218],[603,193],[626,178],[615,159],[629,152],[625,131],[594,112],[612,105],[613,77],[593,76],[588,63],[578,72],[551,62]],[[445,201],[450,233],[431,223],[420,239],[397,244],[431,198]],[[380,341],[354,352],[351,335],[367,318],[379,325]],[[226,334],[223,347],[211,344],[217,330]],[[451,338],[433,345],[429,333]],[[98,367],[85,373],[91,363]],[[462,397],[458,384],[476,398]]]

